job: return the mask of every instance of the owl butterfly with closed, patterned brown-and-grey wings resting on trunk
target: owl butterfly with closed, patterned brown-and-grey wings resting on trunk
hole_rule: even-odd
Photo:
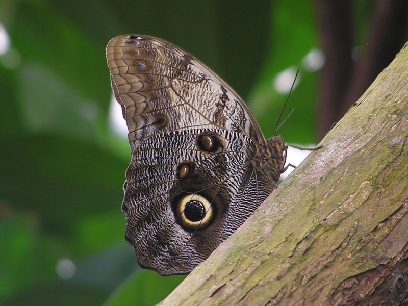
[[[266,140],[238,94],[182,48],[123,35],[106,53],[132,150],[125,239],[141,267],[188,273],[276,187],[288,146]]]

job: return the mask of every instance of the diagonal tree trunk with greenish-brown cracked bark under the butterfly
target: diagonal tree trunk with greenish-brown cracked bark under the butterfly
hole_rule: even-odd
[[[408,303],[408,44],[161,305]]]

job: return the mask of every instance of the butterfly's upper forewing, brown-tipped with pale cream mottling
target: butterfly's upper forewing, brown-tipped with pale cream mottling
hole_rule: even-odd
[[[242,99],[181,48],[154,37],[124,35],[108,43],[107,59],[132,149],[157,130],[193,126],[235,131],[265,143]]]

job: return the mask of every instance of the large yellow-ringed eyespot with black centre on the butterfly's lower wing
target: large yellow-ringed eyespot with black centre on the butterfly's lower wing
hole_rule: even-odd
[[[214,217],[214,208],[210,202],[196,193],[183,196],[177,202],[176,211],[180,225],[190,230],[207,227]]]

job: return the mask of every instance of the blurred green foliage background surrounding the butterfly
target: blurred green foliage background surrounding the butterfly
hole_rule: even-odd
[[[301,65],[319,45],[311,2],[2,0],[0,22],[11,39],[0,56],[1,304],[149,305],[184,278],[139,270],[124,242],[130,150],[108,120],[112,37],[185,48],[246,99],[266,137],[286,99],[273,80],[298,67],[296,111],[279,133],[317,141],[317,73]],[[56,273],[64,258],[70,279]]]

